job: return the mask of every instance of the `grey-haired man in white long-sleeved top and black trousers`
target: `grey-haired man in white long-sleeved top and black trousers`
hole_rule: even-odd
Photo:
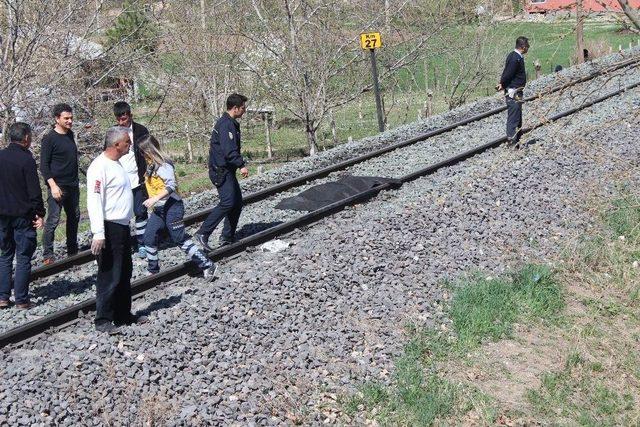
[[[117,332],[136,323],[131,314],[131,238],[133,196],[129,176],[118,160],[129,152],[129,130],[113,126],[105,150],[87,170],[87,209],[91,220],[91,253],[98,257],[96,330]]]

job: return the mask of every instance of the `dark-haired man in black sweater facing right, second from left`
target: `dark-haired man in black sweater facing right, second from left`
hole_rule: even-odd
[[[71,131],[73,110],[67,104],[56,104],[53,107],[53,117],[55,126],[42,138],[40,148],[40,172],[47,184],[49,195],[49,215],[44,226],[42,242],[45,264],[53,262],[53,240],[62,209],[67,216],[67,255],[78,252],[80,221],[78,148]]]

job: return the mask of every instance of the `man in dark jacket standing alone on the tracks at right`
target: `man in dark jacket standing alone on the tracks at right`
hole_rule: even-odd
[[[522,91],[527,84],[524,55],[529,50],[526,37],[516,39],[516,48],[507,55],[504,70],[497,89],[505,93],[507,101],[507,138],[509,145],[516,145],[522,129]]]

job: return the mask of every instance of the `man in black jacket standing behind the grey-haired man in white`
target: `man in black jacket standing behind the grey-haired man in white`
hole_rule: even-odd
[[[146,258],[147,252],[143,238],[149,216],[143,202],[147,200],[147,189],[144,185],[144,173],[147,170],[147,162],[140,152],[138,144],[145,136],[149,135],[149,131],[140,123],[133,121],[131,106],[124,101],[113,104],[113,115],[116,117],[118,126],[129,129],[129,139],[132,142],[131,150],[120,159],[120,163],[129,175],[129,182],[131,182],[131,189],[133,191],[133,215],[136,218],[134,250],[138,252],[140,258]]]

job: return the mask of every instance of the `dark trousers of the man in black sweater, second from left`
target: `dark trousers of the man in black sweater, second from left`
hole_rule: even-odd
[[[47,221],[44,224],[42,237],[44,258],[53,257],[53,241],[55,240],[56,227],[60,223],[60,212],[64,209],[67,216],[67,255],[78,253],[78,222],[80,221],[80,187],[60,186],[62,198],[60,201],[53,198],[51,190],[48,190]]]

